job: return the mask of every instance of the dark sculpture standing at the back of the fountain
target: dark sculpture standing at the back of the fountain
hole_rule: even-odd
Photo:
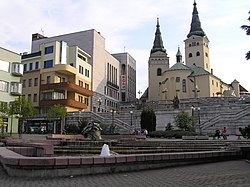
[[[91,140],[101,140],[101,131],[102,128],[99,123],[90,122],[83,128],[82,135],[84,138],[90,138]]]

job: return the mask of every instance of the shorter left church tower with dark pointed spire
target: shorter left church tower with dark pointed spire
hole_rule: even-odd
[[[159,18],[157,18],[154,45],[148,60],[148,100],[160,100],[160,85],[163,74],[169,69],[169,57],[164,49],[161,37]]]

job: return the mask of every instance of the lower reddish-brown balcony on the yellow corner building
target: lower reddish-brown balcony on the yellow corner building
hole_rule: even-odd
[[[87,108],[86,104],[75,101],[73,99],[41,100],[39,105],[44,107],[50,107],[56,104],[60,104],[65,107],[77,108],[80,110]]]

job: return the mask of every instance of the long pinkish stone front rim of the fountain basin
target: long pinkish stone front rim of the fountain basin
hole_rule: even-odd
[[[240,151],[204,151],[114,155],[109,157],[26,157],[5,147],[0,148],[0,161],[10,176],[59,177],[83,174],[136,171],[181,164],[195,164],[242,157]]]

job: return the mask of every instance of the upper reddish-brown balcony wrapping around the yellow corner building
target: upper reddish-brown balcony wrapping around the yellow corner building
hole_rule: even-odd
[[[85,96],[93,96],[93,91],[87,90],[81,86],[78,86],[74,83],[70,82],[60,82],[60,83],[52,83],[52,84],[41,84],[40,87],[41,91],[46,90],[57,90],[57,91],[69,91],[79,93]]]

